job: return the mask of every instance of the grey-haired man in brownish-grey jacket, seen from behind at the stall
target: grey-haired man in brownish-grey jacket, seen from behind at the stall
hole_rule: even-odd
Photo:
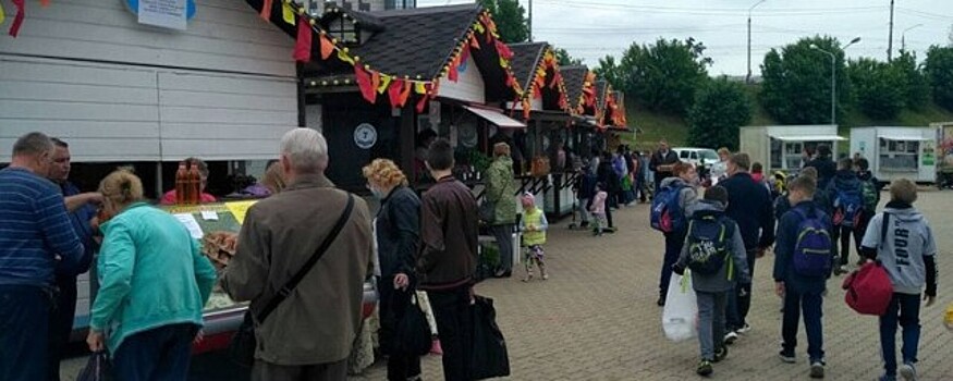
[[[328,144],[295,128],[281,139],[289,186],[255,204],[222,287],[257,312],[302,269],[330,234],[347,198],[325,176]],[[347,356],[361,327],[364,281],[372,273],[370,213],[363,199],[305,278],[267,320],[255,321],[258,347],[252,380],[345,381]],[[257,320],[257,319],[256,319]]]

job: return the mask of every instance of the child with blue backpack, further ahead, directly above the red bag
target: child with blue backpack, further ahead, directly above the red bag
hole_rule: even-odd
[[[857,179],[857,173],[854,172],[853,159],[844,158],[838,161],[838,172],[828,184],[827,194],[831,198],[831,210],[833,211],[831,238],[834,239],[835,250],[836,243],[841,243],[841,261],[840,266],[834,269],[834,274],[840,275],[848,272],[851,235],[854,234],[854,228],[859,225],[864,212],[862,182]]]

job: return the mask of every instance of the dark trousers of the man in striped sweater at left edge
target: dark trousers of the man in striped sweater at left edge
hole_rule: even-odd
[[[0,380],[47,378],[50,309],[49,291],[0,285]]]

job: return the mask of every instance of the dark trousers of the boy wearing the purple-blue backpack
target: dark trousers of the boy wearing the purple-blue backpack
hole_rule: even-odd
[[[794,355],[797,346],[797,325],[804,314],[804,331],[807,333],[807,356],[810,361],[821,361],[823,351],[823,324],[821,318],[823,296],[821,292],[801,292],[787,286],[784,290],[784,317],[781,321],[781,347],[785,355]]]

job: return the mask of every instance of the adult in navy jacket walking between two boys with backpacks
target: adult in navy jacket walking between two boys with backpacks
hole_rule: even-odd
[[[774,243],[774,212],[768,188],[752,179],[748,171],[752,159],[747,153],[735,153],[728,161],[729,177],[718,185],[728,189],[725,214],[737,222],[745,242],[748,271],[754,279],[755,258]],[[752,307],[752,283],[738,283],[738,290],[729,295],[726,312],[726,342],[734,342],[737,333],[750,327],[745,322]]]

